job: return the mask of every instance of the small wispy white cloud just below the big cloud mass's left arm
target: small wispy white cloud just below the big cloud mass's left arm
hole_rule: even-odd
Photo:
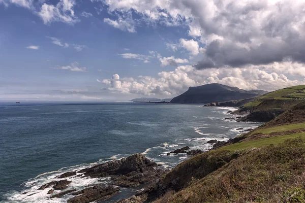
[[[136,32],[135,23],[131,17],[131,14],[128,15],[127,18],[119,17],[117,20],[104,18],[104,22],[123,31]]]

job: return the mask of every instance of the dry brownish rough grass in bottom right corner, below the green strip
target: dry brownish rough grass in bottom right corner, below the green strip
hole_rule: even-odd
[[[189,167],[192,167],[190,165]],[[158,203],[305,202],[305,140],[288,139],[231,160]],[[181,177],[183,178],[183,177]]]

